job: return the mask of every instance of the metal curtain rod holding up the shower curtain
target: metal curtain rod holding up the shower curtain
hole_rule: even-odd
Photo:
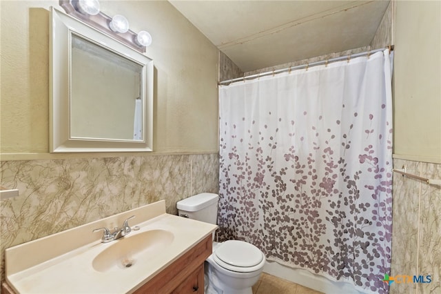
[[[234,81],[245,81],[245,80],[249,80],[249,79],[256,79],[256,77],[264,77],[266,75],[276,75],[280,72],[287,72],[287,71],[291,71],[291,70],[299,70],[302,68],[307,68],[309,66],[319,66],[322,64],[327,64],[329,62],[336,62],[336,61],[340,61],[340,60],[344,60],[344,59],[351,59],[353,57],[361,57],[361,56],[369,56],[373,53],[376,52],[380,52],[380,51],[384,51],[386,49],[389,49],[389,51],[393,51],[393,45],[391,46],[387,46],[387,48],[381,48],[381,49],[376,49],[376,50],[369,50],[367,52],[361,52],[361,53],[356,53],[356,54],[352,54],[352,55],[345,55],[345,56],[340,56],[340,57],[335,57],[335,58],[331,58],[331,59],[326,59],[326,60],[321,60],[321,61],[316,61],[316,62],[311,62],[311,63],[306,63],[306,64],[301,64],[300,66],[290,66],[289,68],[282,68],[280,70],[271,70],[270,72],[263,72],[263,73],[259,73],[259,74],[255,74],[255,75],[248,75],[246,77],[238,77],[236,79],[227,79],[226,81],[220,81],[218,82],[218,85],[223,85],[223,84],[230,84],[233,83]]]

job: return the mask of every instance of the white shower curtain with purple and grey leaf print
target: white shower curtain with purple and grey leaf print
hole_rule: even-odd
[[[219,88],[221,239],[387,293],[389,50]]]

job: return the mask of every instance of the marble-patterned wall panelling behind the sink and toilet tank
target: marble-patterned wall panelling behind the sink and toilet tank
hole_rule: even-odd
[[[218,193],[218,154],[2,161],[1,186],[19,197],[0,202],[4,250],[68,228],[165,199]]]

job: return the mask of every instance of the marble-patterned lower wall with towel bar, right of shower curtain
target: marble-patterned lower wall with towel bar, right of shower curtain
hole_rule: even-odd
[[[441,164],[394,159],[407,173],[441,179]],[[391,284],[390,293],[441,293],[441,186],[393,175],[392,268],[395,275],[431,275],[430,283]],[[427,281],[427,280],[425,280]]]

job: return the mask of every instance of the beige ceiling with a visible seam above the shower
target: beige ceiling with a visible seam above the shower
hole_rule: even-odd
[[[389,1],[170,3],[248,72],[369,46]]]

